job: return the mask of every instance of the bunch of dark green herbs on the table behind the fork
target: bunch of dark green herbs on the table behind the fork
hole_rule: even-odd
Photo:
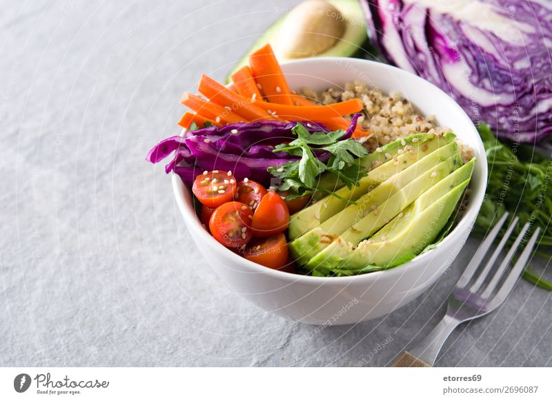
[[[509,211],[518,216],[522,224],[530,222],[531,232],[541,227],[535,255],[551,260],[552,160],[535,153],[533,147],[498,141],[488,125],[480,124],[478,130],[489,163],[489,182],[475,221],[475,234],[484,236],[497,218]],[[515,234],[520,232],[522,224],[517,225]],[[529,266],[523,278],[552,291],[552,283]]]

